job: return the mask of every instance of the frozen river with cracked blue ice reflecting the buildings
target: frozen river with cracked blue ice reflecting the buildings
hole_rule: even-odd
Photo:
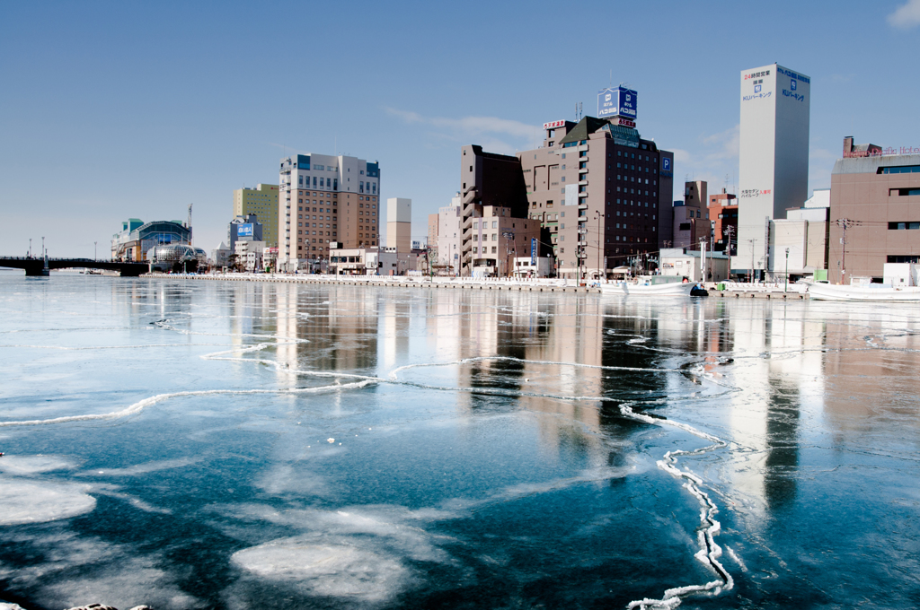
[[[920,310],[0,274],[0,600],[912,608]]]

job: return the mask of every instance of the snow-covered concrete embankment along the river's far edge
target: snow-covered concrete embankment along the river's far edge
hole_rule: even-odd
[[[275,282],[281,284],[322,284],[328,286],[376,286],[381,288],[439,288],[459,290],[519,290],[529,292],[581,292],[600,294],[600,288],[575,286],[563,280],[522,280],[503,279],[457,279],[427,277],[334,277],[313,275],[274,275],[274,274],[217,274],[204,276],[182,276],[153,274],[145,277],[157,277],[173,280],[204,280],[230,282]],[[783,287],[756,285],[745,287],[732,285],[724,290],[717,289],[717,284],[708,284],[709,296],[720,299],[805,299],[806,295],[793,287],[784,291]]]

